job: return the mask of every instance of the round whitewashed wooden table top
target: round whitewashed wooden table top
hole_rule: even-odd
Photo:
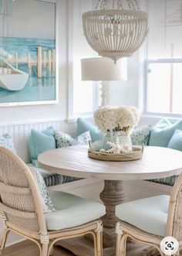
[[[90,159],[88,146],[57,148],[38,157],[39,166],[51,172],[79,178],[108,180],[155,179],[182,172],[182,152],[161,147],[144,147],[143,158],[128,162]]]

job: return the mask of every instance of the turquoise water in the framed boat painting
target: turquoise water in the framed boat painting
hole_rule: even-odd
[[[42,52],[56,48],[56,41],[49,39],[12,37],[4,40],[4,50],[10,53],[13,58],[15,53],[19,53],[19,60],[27,59],[27,54],[30,53],[31,60],[37,61],[38,46],[42,46]],[[11,64],[15,66],[15,63]],[[27,63],[19,63],[19,70],[29,73],[28,82],[22,90],[17,91],[5,90],[0,87],[0,103],[56,100],[56,74],[50,72],[48,67],[42,67],[42,78],[37,77],[36,65],[33,65],[32,69],[29,69]]]

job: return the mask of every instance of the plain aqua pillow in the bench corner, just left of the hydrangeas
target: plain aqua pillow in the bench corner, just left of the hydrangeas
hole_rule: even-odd
[[[103,139],[103,134],[99,131],[96,125],[91,124],[89,121],[86,121],[83,118],[78,118],[76,135],[82,135],[84,132],[89,131],[92,141],[96,142]]]

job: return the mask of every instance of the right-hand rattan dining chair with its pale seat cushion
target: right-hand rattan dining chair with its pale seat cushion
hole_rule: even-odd
[[[182,171],[182,170],[181,170]],[[131,214],[130,214],[130,213]],[[116,207],[116,256],[126,255],[126,240],[139,241],[156,247],[161,255],[160,242],[164,237],[175,237],[182,248],[182,174],[174,183],[170,196],[123,203]],[[175,255],[179,255],[179,251]]]

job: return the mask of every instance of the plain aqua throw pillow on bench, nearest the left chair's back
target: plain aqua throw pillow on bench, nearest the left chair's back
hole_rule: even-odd
[[[55,131],[52,127],[47,128],[45,131],[32,129],[29,137],[29,150],[32,162],[35,162],[38,155],[42,152],[56,148],[54,133]]]

